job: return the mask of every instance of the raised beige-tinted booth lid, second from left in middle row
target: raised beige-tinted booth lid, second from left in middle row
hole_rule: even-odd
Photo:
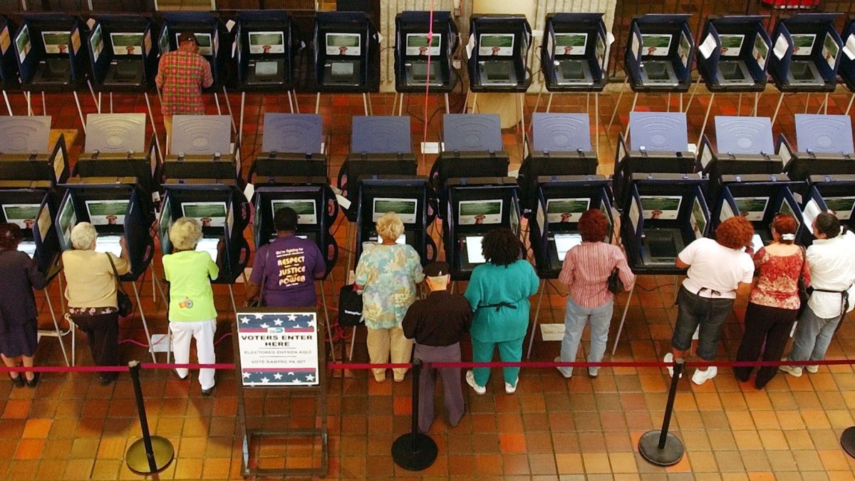
[[[145,114],[89,114],[86,116],[86,152],[142,152],[145,150]]]

